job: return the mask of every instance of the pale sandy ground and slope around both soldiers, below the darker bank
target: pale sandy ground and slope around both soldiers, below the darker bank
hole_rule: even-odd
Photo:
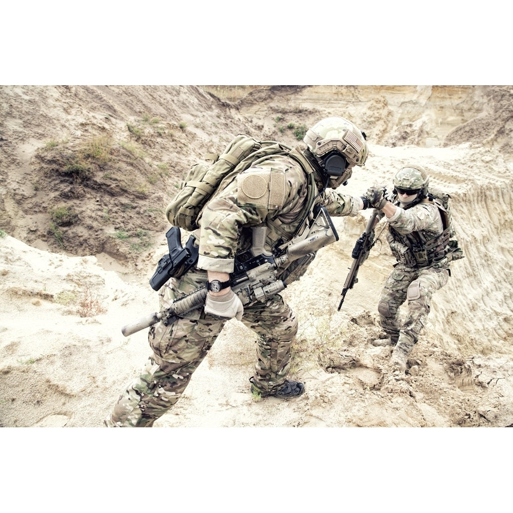
[[[410,375],[394,379],[388,350],[369,343],[380,333],[376,303],[393,263],[386,245],[373,249],[337,311],[364,212],[334,220],[340,241],[321,250],[301,281],[283,293],[300,317],[292,375],[305,382],[307,393],[291,402],[255,401],[248,391],[254,337],[231,321],[183,398],[155,426],[513,424],[509,153],[491,146],[484,151],[470,136],[446,147],[369,146],[368,165],[354,173],[344,192],[360,195],[372,183],[388,183],[394,169],[418,159],[432,185],[453,196],[466,253],[433,300],[429,323],[411,353]],[[13,198],[4,195],[11,212]],[[146,333],[124,338],[121,327],[156,308],[147,280],[165,252],[164,241],[161,237],[130,268],[105,253],[73,257],[48,251],[41,242],[39,249],[28,246],[10,236],[20,230],[6,229],[0,239],[0,422],[99,427],[148,356]],[[76,303],[86,292],[104,313],[80,317]]]

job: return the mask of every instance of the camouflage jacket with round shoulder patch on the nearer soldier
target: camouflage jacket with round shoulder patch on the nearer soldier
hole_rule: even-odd
[[[315,190],[315,195],[318,191]],[[288,242],[303,219],[307,201],[307,176],[299,163],[276,155],[238,175],[203,210],[198,267],[233,272],[238,251],[247,249],[250,228],[267,226],[266,247],[279,238]],[[334,216],[357,215],[360,199],[327,189],[315,200]],[[279,233],[277,233],[279,231]]]

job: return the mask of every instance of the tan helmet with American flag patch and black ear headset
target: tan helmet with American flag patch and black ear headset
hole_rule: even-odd
[[[303,139],[321,165],[333,189],[344,184],[353,166],[364,166],[369,149],[365,133],[343,117],[327,117],[310,128]]]

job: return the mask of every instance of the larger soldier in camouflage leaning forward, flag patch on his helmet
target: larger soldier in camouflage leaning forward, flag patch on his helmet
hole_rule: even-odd
[[[205,306],[181,315],[169,326],[160,322],[149,329],[152,354],[139,378],[121,394],[106,426],[151,427],[180,399],[231,318],[242,321],[258,337],[252,392],[280,399],[304,392],[303,383],[286,379],[298,330],[291,308],[280,294],[243,306],[229,286],[235,254],[248,248],[251,227],[267,228],[265,249],[269,251],[293,238],[310,210],[306,203],[313,199],[336,216],[354,216],[368,206],[364,198],[335,190],[346,183],[354,166],[365,164],[365,134],[349,121],[332,117],[310,129],[304,142],[306,146],[298,146],[293,154],[269,156],[242,172],[207,203],[195,234],[199,241],[196,267],[180,279],[169,279],[159,293],[162,309],[206,284]],[[302,269],[283,269],[278,279],[290,283],[310,261]]]

